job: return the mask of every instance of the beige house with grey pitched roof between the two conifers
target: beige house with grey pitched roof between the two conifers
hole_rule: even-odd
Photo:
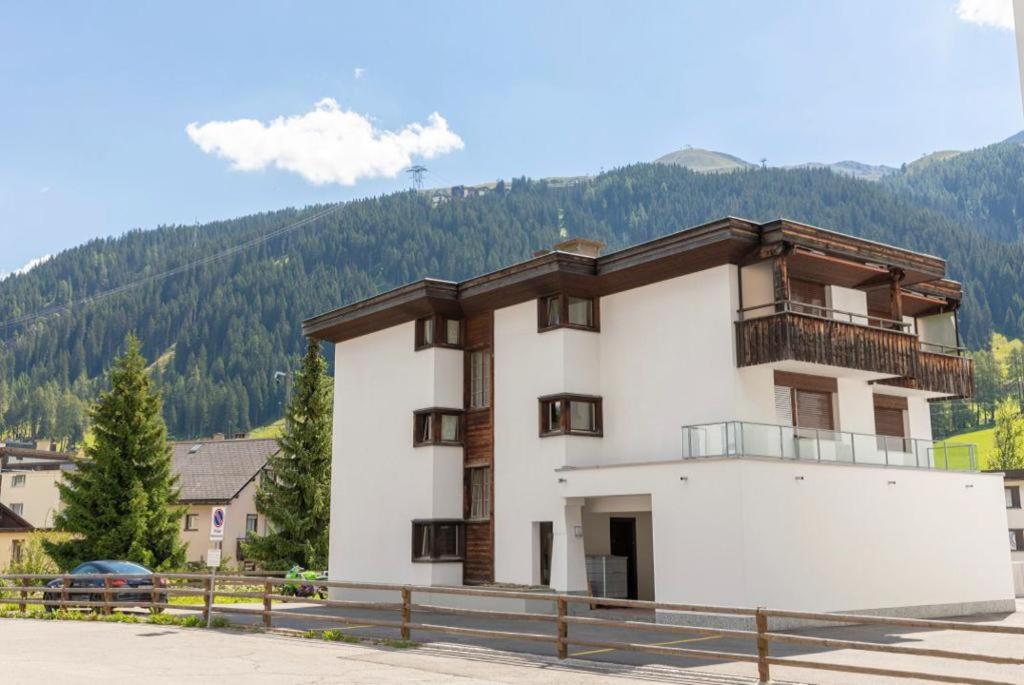
[[[266,521],[256,511],[256,487],[267,460],[278,453],[278,441],[219,438],[174,442],[172,448],[180,502],[187,507],[181,520],[187,561],[206,559],[211,547],[210,517],[217,505],[227,507],[224,561],[244,561],[241,542],[246,534],[266,533]]]

